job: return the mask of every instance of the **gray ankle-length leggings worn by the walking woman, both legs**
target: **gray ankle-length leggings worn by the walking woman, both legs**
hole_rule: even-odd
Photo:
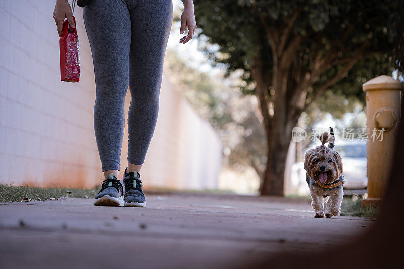
[[[94,62],[95,137],[103,171],[120,170],[129,86],[128,160],[143,164],[159,111],[171,0],[92,0],[84,24]]]

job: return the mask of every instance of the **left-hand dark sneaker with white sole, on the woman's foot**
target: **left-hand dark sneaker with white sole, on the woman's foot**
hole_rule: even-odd
[[[101,190],[95,196],[94,205],[123,206],[123,187],[121,182],[112,174],[103,181]]]

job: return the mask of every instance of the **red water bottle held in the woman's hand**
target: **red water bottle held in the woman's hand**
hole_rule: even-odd
[[[76,19],[73,16],[74,24]],[[80,53],[76,28],[71,28],[68,21],[63,22],[62,36],[59,38],[60,48],[60,80],[79,82]]]

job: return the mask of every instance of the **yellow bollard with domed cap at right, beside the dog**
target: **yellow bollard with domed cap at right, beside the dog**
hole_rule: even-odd
[[[362,88],[366,92],[366,126],[369,131],[366,143],[368,197],[362,201],[362,206],[379,207],[390,176],[404,84],[383,75],[369,80]]]

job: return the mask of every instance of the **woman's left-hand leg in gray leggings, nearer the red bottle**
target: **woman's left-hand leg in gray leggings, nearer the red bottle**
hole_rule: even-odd
[[[129,85],[131,18],[122,0],[90,1],[84,23],[94,62],[94,128],[105,178],[118,178]],[[82,52],[83,53],[83,52]]]

